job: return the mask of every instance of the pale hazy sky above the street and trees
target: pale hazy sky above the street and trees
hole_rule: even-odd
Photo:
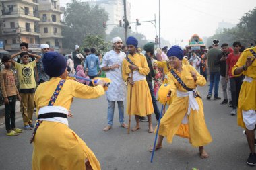
[[[61,6],[71,0],[61,0]],[[107,1],[107,0],[106,0]],[[127,0],[131,2],[131,21],[154,19],[158,25],[159,0]],[[218,22],[237,24],[239,19],[256,6],[256,0],[160,0],[161,37],[171,44],[188,44],[193,34],[212,36]],[[133,31],[140,32],[147,39],[154,40],[155,28],[150,23],[141,26],[131,24]],[[137,28],[137,29],[136,29]]]

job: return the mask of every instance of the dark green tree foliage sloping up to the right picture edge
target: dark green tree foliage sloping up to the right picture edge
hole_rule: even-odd
[[[240,41],[245,47],[253,42],[256,44],[256,7],[252,11],[245,13],[240,22],[234,28],[216,30],[216,33],[208,38],[207,46],[212,45],[215,38],[220,40],[220,44],[226,42],[232,46],[233,42]]]

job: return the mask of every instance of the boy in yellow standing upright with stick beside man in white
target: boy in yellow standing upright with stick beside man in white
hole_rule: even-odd
[[[139,116],[148,116],[148,132],[152,133],[151,114],[154,113],[154,108],[150,89],[146,81],[146,75],[148,75],[150,69],[148,68],[145,56],[136,52],[137,39],[130,36],[127,38],[126,44],[129,55],[122,63],[122,77],[124,81],[129,82],[127,90],[127,113],[129,115],[135,115],[136,119],[136,126],[132,131],[139,129]],[[131,79],[131,71],[133,71],[133,79]],[[130,99],[131,93],[132,97]]]

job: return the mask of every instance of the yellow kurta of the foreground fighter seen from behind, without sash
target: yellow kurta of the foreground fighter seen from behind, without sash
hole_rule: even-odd
[[[53,77],[38,86],[34,95],[37,111],[47,106],[61,78]],[[69,110],[73,97],[94,99],[104,95],[101,86],[89,87],[77,81],[66,80],[53,106]],[[89,160],[92,169],[99,170],[100,163],[86,143],[66,124],[44,120],[33,142],[33,170],[85,169]]]

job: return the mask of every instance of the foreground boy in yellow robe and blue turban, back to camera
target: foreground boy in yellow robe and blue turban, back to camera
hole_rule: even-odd
[[[34,99],[38,122],[33,142],[32,169],[93,169],[100,163],[86,143],[69,128],[67,116],[73,97],[94,99],[104,95],[104,81],[89,87],[67,80],[67,62],[57,52],[47,52],[42,59],[44,71],[51,79],[41,83]]]

